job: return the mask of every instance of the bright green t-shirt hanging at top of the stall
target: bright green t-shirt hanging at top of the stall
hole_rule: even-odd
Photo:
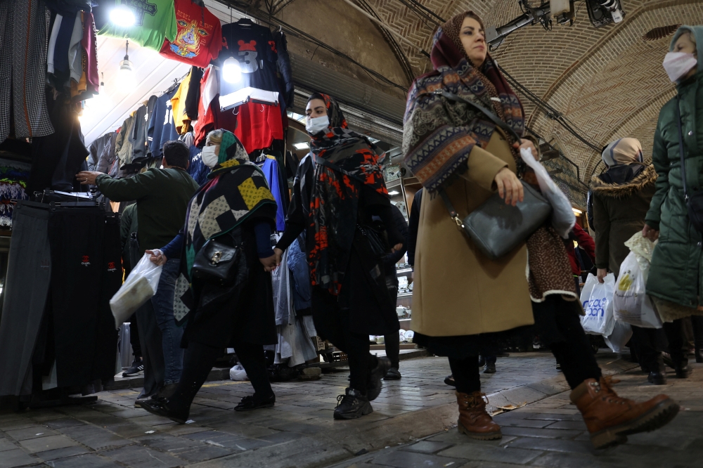
[[[176,37],[176,8],[173,0],[115,0],[115,6],[126,6],[134,13],[131,27],[120,27],[111,21],[98,32],[108,37],[129,39],[143,47],[160,51],[164,38]]]

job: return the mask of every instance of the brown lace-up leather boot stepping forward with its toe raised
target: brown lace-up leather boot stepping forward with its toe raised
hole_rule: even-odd
[[[659,429],[678,413],[678,404],[666,395],[643,403],[621,398],[603,377],[584,380],[570,398],[581,411],[595,448],[616,446],[629,434]]]

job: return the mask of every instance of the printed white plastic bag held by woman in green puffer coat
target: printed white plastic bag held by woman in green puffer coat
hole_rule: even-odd
[[[662,320],[645,289],[649,261],[643,256],[639,257],[634,251],[630,252],[620,265],[613,297],[615,319],[638,327],[661,328]],[[641,268],[642,261],[646,264],[645,271]]]

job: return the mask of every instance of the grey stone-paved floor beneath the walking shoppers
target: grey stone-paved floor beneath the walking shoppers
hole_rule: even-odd
[[[608,373],[633,367],[612,353],[600,353],[598,358]],[[565,447],[579,460],[593,457],[583,438],[582,423],[574,417],[575,410],[562,393],[567,386],[555,370],[550,353],[501,358],[497,374],[482,375],[484,391],[494,407],[528,403],[498,416],[506,426],[502,445],[477,446],[460,438],[453,429],[456,403],[451,387],[442,382],[449,374],[446,359],[405,360],[401,362],[401,372],[400,381],[385,382],[380,397],[373,402],[374,412],[354,421],[332,418],[336,396],[347,386],[347,371],[325,374],[314,382],[273,384],[276,406],[245,413],[236,413],[232,408],[240,398],[252,393],[248,382],[208,382],[195,399],[191,411],[194,422],[186,425],[134,408],[137,393],[131,390],[103,392],[92,405],[5,412],[0,414],[0,468],[312,468],[343,460],[349,461],[339,467],[355,463],[358,467],[443,466],[434,464],[437,460],[442,464],[454,462],[456,466],[469,460],[541,460],[545,464],[550,460],[560,463],[561,457],[569,456]],[[703,379],[703,368],[698,373]],[[625,391],[652,392],[653,387],[635,383],[643,381],[641,375],[626,376],[626,382],[619,385]],[[659,446],[676,441],[671,450],[678,450],[703,440],[690,434],[677,438],[695,423],[691,416],[703,410],[703,406],[694,405],[703,405],[703,398],[695,401],[699,384],[696,378],[666,387],[678,392],[690,408],[671,425],[674,432],[617,450],[636,452],[657,441],[661,441]],[[408,445],[418,439],[424,439],[418,442],[420,445]],[[632,437],[631,443],[638,440]],[[399,449],[385,449],[386,446]],[[354,460],[361,453],[368,455]],[[496,453],[512,458],[501,458]],[[681,464],[685,466],[688,465]]]

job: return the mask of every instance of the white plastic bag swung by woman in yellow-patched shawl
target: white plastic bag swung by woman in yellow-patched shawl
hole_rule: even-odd
[[[115,328],[129,320],[138,308],[143,306],[154,294],[159,285],[163,266],[156,266],[144,254],[141,260],[124,280],[124,285],[110,299],[110,309],[115,317]]]

